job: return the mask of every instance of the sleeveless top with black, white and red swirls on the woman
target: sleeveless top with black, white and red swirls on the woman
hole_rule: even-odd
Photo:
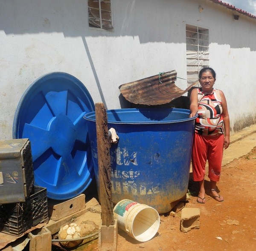
[[[195,132],[203,136],[224,134],[221,95],[213,88],[211,94],[198,88],[198,117],[195,120]]]

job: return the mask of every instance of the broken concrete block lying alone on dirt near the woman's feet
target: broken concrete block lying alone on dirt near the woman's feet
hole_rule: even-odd
[[[181,211],[180,231],[188,232],[191,229],[200,228],[200,209],[199,208],[183,208]]]

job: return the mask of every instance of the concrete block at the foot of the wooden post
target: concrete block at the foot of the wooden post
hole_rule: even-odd
[[[114,220],[114,225],[99,226],[99,251],[116,251],[117,249],[117,220]]]

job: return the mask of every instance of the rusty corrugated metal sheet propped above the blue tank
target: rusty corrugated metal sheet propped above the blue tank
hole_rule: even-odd
[[[175,85],[177,71],[162,72],[141,80],[119,86],[122,95],[131,103],[140,105],[163,105],[189,91],[197,82],[192,83],[186,90]]]

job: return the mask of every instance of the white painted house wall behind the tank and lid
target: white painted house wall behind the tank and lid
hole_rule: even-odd
[[[186,78],[186,23],[209,29],[210,66],[232,132],[256,123],[256,20],[234,20],[209,0],[111,2],[113,32],[89,29],[86,0],[0,0],[0,139],[12,138],[26,88],[49,72],[77,77],[108,109],[120,108],[123,83],[170,70]],[[185,80],[176,84],[186,88]]]

